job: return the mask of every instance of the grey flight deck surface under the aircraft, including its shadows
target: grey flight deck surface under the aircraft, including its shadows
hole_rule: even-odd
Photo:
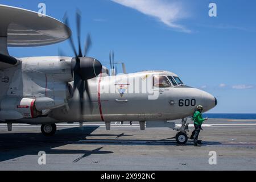
[[[256,120],[209,119],[200,133],[201,147],[192,140],[177,144],[176,131],[168,128],[140,131],[137,122],[112,122],[111,127],[59,123],[56,135],[44,137],[40,125],[13,124],[8,132],[0,123],[0,170],[256,169]],[[39,151],[46,152],[46,165],[38,164]],[[216,152],[217,164],[209,164],[210,151]]]

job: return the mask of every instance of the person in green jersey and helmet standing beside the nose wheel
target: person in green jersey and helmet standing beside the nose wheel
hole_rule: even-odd
[[[198,140],[199,133],[202,130],[201,125],[203,124],[204,121],[208,120],[208,118],[203,118],[202,111],[203,106],[197,106],[196,111],[192,117],[194,121],[195,130],[192,132],[190,139],[194,139],[194,146],[198,147],[201,146],[201,140]]]

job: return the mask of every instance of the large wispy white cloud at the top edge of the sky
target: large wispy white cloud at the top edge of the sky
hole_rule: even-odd
[[[183,5],[177,1],[166,0],[111,0],[120,5],[135,9],[145,15],[153,16],[168,27],[175,28],[178,31],[190,33],[184,26],[177,24],[177,20],[185,18],[186,11]]]

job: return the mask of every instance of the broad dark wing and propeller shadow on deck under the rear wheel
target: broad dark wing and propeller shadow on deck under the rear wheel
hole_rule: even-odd
[[[78,140],[88,137],[98,126],[79,127],[57,130],[52,137],[44,137],[42,133],[5,133],[0,134],[0,162],[19,158],[25,155],[38,155],[39,151],[46,154],[83,154],[80,159],[92,154],[111,154],[112,151],[95,150],[59,150],[53,149],[67,144],[72,144]]]

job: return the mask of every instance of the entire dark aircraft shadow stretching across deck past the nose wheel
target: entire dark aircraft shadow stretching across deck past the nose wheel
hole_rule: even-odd
[[[138,140],[138,139],[119,139],[119,137],[131,137],[133,135],[122,134],[92,134],[99,126],[79,127],[57,130],[52,137],[44,137],[42,133],[5,133],[0,134],[0,162],[19,158],[25,155],[38,155],[39,151],[46,154],[82,154],[73,162],[79,162],[82,158],[92,154],[112,154],[113,151],[102,151],[103,147],[94,150],[61,150],[53,149],[67,144],[119,144],[119,145],[170,145],[176,146],[174,138],[160,140]],[[86,137],[115,137],[115,139],[86,139]],[[172,139],[172,140],[170,140]],[[192,145],[192,140],[186,145]],[[220,142],[204,142],[204,145],[219,145]]]

